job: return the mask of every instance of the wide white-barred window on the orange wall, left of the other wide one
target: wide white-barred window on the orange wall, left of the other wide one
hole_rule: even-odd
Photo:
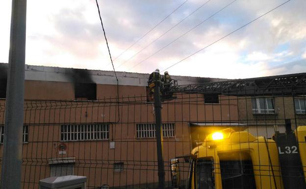
[[[61,125],[62,141],[107,140],[109,124]]]

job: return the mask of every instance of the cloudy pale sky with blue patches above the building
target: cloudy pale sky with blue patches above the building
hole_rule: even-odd
[[[286,0],[226,8],[233,0],[184,1],[98,0],[116,71],[162,71]],[[10,16],[11,1],[1,0],[0,62],[8,62]],[[26,19],[26,64],[112,70],[95,0],[27,0]],[[289,1],[168,72],[229,79],[306,72],[306,0]]]

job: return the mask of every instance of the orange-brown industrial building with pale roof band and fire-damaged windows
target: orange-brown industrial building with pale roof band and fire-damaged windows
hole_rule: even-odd
[[[117,85],[111,71],[30,65],[25,69],[24,189],[38,189],[41,179],[70,174],[86,176],[90,189],[156,188],[154,106],[148,99],[149,74],[118,72]],[[6,72],[7,64],[1,63],[0,142],[5,129]],[[179,85],[224,81],[181,76],[172,79]],[[232,127],[269,136],[274,129],[282,131],[284,119],[292,119],[294,127],[295,123],[306,124],[303,96],[299,100],[218,94],[176,97],[162,103],[168,184],[168,161],[189,154],[213,130]],[[263,107],[262,101],[266,104]],[[294,106],[294,102],[299,102],[299,106]]]

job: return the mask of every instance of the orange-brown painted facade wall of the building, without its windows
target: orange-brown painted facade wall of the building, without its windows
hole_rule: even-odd
[[[116,85],[97,85],[97,102],[26,101],[25,124],[28,143],[23,145],[24,189],[37,189],[40,179],[50,176],[50,158],[75,157],[74,174],[88,178],[88,186],[140,186],[157,182],[156,144],[153,138],[137,138],[137,123],[153,123],[153,104],[146,101],[146,87],[120,86],[119,96],[126,103],[116,103]],[[134,97],[138,96],[137,98]],[[140,98],[139,96],[143,96]],[[104,98],[114,99],[106,100]],[[192,97],[191,99],[189,97]],[[74,86],[68,82],[26,81],[28,100],[73,100]],[[236,121],[238,111],[234,97],[220,96],[219,104],[204,104],[203,95],[178,95],[177,100],[162,104],[162,122],[175,123],[176,137],[164,138],[163,152],[166,181],[170,180],[167,161],[191,151],[188,123],[198,121]],[[129,102],[129,103],[127,103]],[[4,100],[0,101],[0,124],[4,123]],[[118,114],[119,108],[119,114]],[[117,122],[117,123],[116,123]],[[70,141],[67,153],[59,155],[60,126],[78,123],[110,123],[109,140]],[[115,142],[115,149],[109,142]],[[0,146],[2,154],[2,145]],[[114,173],[113,163],[124,162],[127,170]],[[137,187],[135,187],[137,188]]]

